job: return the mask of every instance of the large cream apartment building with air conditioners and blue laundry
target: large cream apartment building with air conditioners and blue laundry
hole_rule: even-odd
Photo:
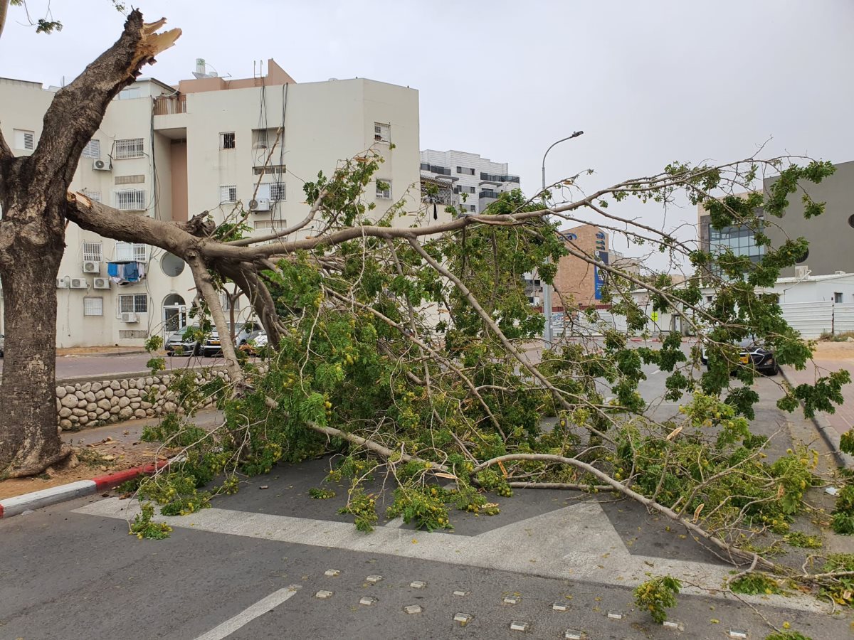
[[[122,90],[86,145],[72,189],[163,220],[210,212],[220,223],[245,209],[263,235],[305,217],[305,180],[373,148],[385,160],[366,194],[373,214],[402,199],[411,215],[395,224],[412,224],[421,207],[417,90],[369,79],[297,84],[273,60],[249,79],[195,75],[177,87],[139,79]],[[0,126],[16,154],[38,145],[55,90],[0,79]],[[440,208],[421,222],[447,219]],[[57,346],[137,346],[188,322],[196,291],[183,260],[74,224],[66,243]]]

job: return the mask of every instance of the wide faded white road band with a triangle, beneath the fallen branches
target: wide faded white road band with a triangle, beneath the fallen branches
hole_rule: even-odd
[[[131,519],[139,503],[117,497],[86,504],[73,513]],[[466,567],[512,571],[543,578],[580,579],[607,585],[640,585],[647,573],[669,573],[690,586],[686,593],[722,597],[720,586],[730,575],[728,566],[671,560],[629,553],[600,504],[575,503],[535,515],[477,536],[377,527],[369,535],[352,524],[295,518],[289,515],[249,514],[230,509],[203,509],[195,514],[161,516],[171,527],[225,533],[351,550]],[[412,543],[413,534],[418,544]],[[804,611],[822,611],[822,604],[806,596],[741,596],[747,602]]]

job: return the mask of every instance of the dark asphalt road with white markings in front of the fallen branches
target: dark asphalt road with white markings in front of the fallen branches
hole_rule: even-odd
[[[652,398],[665,375],[646,373],[641,388]],[[809,439],[810,424],[775,409],[777,382],[757,381],[754,428],[782,432],[774,446],[785,449],[787,436]],[[346,486],[333,486],[330,500],[307,495],[329,464],[249,479],[212,509],[168,519],[174,531],[163,541],[128,536],[137,505],[116,497],[0,521],[0,637],[739,637],[733,631],[761,640],[762,616],[814,640],[850,634],[850,616],[830,617],[805,596],[742,596],[752,606],[724,596],[731,567],[635,503],[517,490],[500,499],[499,515],[455,513],[450,532],[381,518],[363,534],[336,513]],[[632,602],[634,585],[663,573],[686,585],[670,613],[681,631],[654,625]]]

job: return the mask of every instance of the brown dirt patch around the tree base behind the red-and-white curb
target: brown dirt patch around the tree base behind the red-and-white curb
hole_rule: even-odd
[[[3,480],[0,482],[0,499],[67,485],[78,480],[91,480],[129,468],[144,467],[174,455],[174,451],[161,451],[158,454],[157,443],[141,442],[138,439],[103,439],[97,443],[73,446],[79,461],[76,467],[51,469],[32,478]]]

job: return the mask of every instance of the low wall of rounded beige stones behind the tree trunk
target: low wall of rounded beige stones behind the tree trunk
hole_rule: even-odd
[[[212,377],[229,380],[223,369],[199,369],[196,380],[202,383]],[[67,381],[56,387],[59,427],[63,431],[76,431],[179,410],[167,393],[171,379],[171,375],[149,375],[120,380]]]

